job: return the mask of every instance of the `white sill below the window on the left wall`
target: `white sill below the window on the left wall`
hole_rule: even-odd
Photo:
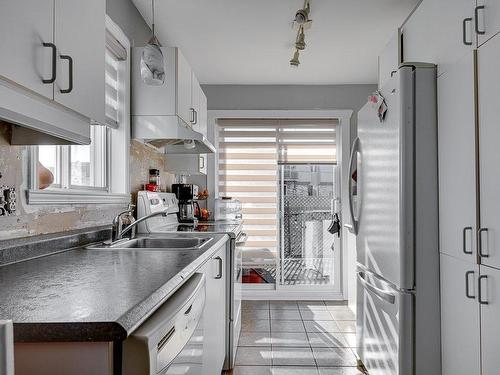
[[[28,190],[28,204],[126,204],[130,203],[130,194],[113,194],[103,191],[88,190]]]

